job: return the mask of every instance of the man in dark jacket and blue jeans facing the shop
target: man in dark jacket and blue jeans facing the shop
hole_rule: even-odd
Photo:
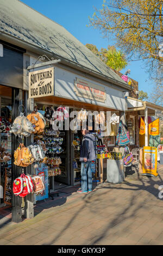
[[[80,150],[82,189],[78,193],[87,193],[92,191],[92,172],[91,161],[96,159],[93,142],[95,137],[89,132],[88,128],[82,131],[83,141]]]

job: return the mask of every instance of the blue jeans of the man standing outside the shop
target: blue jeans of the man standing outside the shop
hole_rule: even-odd
[[[81,162],[82,191],[92,190],[91,161]]]

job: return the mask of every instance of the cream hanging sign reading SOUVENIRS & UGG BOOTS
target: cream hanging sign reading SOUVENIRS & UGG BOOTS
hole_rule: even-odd
[[[54,68],[29,72],[29,98],[54,95]]]

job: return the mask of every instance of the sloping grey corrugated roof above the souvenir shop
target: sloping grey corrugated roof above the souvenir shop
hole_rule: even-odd
[[[127,86],[121,77],[115,74],[64,27],[21,1],[0,0],[0,31]]]

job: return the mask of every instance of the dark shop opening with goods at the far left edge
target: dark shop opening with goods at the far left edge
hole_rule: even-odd
[[[0,209],[11,207],[11,88],[0,86]]]

